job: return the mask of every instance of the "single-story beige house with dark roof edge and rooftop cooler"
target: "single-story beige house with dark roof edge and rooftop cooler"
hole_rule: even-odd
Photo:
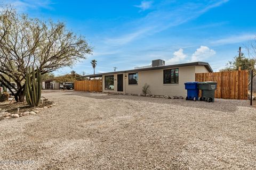
[[[195,81],[195,73],[213,72],[209,63],[193,62],[165,65],[154,60],[150,67],[85,75],[85,78],[102,78],[103,92],[141,94],[149,85],[150,95],[186,96],[185,82]]]

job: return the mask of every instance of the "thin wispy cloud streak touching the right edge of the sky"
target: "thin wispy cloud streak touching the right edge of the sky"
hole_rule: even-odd
[[[218,40],[214,40],[211,42],[211,44],[214,45],[224,45],[224,44],[234,44],[234,43],[241,43],[247,40],[252,40],[256,37],[255,34],[243,34],[243,35],[235,35],[230,36]]]

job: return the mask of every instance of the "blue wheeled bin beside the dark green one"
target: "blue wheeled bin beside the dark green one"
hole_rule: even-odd
[[[198,100],[198,94],[199,90],[197,87],[197,81],[193,82],[186,82],[185,84],[185,89],[187,90],[187,97],[186,100]]]

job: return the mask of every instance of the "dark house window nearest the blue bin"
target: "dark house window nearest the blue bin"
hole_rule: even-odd
[[[164,84],[179,83],[179,69],[164,70]]]

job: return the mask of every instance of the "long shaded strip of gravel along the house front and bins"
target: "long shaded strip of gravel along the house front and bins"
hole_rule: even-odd
[[[133,101],[147,101],[159,104],[171,104],[178,105],[182,107],[195,107],[202,108],[212,111],[220,111],[232,113],[237,110],[238,106],[251,107],[249,100],[230,100],[230,99],[215,99],[214,103],[207,103],[205,101],[186,101],[182,99],[165,99],[165,98],[153,98],[153,97],[142,97],[142,96],[128,96],[128,95],[108,95],[108,94],[98,94],[83,91],[70,91],[63,95],[70,96],[81,96],[93,99],[123,99],[123,100],[133,100]]]

